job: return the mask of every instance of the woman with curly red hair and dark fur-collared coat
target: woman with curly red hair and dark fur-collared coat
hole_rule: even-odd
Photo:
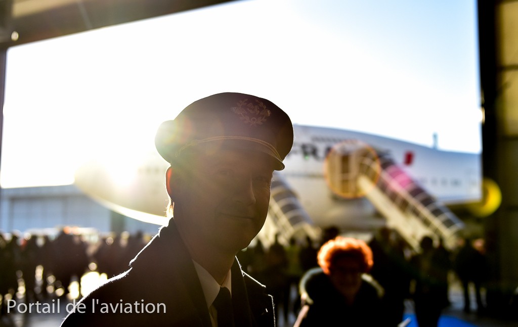
[[[322,245],[318,263],[300,281],[305,305],[295,327],[383,325],[383,289],[367,275],[373,261],[364,241],[337,236]]]

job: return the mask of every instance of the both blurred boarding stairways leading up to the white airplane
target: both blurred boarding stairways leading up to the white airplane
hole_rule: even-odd
[[[415,250],[428,235],[452,249],[464,223],[390,157],[361,143],[344,143],[328,154],[328,186],[343,198],[366,197]],[[283,241],[303,233],[316,240],[320,230],[298,201],[297,196],[276,173],[271,185],[268,219],[262,231],[263,242],[271,243],[275,234]]]

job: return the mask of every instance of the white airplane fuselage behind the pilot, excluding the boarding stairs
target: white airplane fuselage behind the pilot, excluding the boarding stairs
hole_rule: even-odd
[[[317,226],[339,225],[364,230],[379,225],[375,208],[365,198],[343,198],[326,182],[324,163],[336,144],[364,144],[372,151],[389,153],[415,181],[444,203],[476,201],[480,198],[480,155],[440,151],[404,141],[348,130],[294,126],[292,151],[280,171]],[[85,193],[124,215],[163,224],[167,193],[168,163],[150,149],[140,162],[117,156],[100,158],[76,173],[76,184]],[[109,161],[109,165],[107,162]],[[120,164],[117,162],[121,161]],[[124,178],[119,169],[124,167]]]

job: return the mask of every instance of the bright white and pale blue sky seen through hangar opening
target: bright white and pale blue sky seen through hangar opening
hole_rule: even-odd
[[[2,187],[73,182],[138,156],[219,92],[296,124],[481,151],[476,0],[247,0],[9,49]]]

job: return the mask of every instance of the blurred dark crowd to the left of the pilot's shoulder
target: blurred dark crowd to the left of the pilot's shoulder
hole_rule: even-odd
[[[102,236],[97,242],[68,228],[55,237],[0,233],[0,315],[6,314],[7,299],[22,296],[26,303],[34,303],[51,296],[63,298],[71,282],[80,281],[85,273],[117,275],[128,269],[145,244],[141,232]],[[81,292],[81,283],[78,286]]]

